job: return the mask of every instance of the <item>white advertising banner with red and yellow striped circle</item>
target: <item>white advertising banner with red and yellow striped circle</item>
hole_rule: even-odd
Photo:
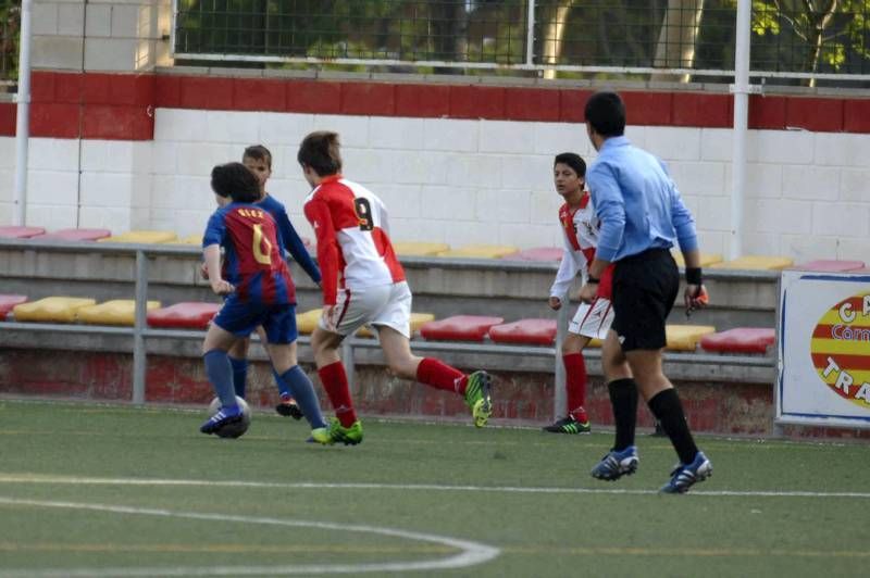
[[[784,271],[776,420],[870,428],[870,274]]]

